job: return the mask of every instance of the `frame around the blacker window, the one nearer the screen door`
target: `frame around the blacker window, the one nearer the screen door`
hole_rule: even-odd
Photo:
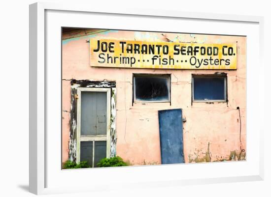
[[[135,97],[135,77],[168,77],[169,78],[169,100],[162,101],[142,101]],[[171,103],[171,74],[149,74],[149,73],[133,73],[133,103]]]

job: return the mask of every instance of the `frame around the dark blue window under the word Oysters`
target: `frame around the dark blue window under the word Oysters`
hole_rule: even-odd
[[[194,79],[195,78],[224,78],[224,99],[213,99],[213,100],[200,100],[194,98]],[[220,74],[192,74],[192,86],[191,86],[191,94],[192,94],[192,102],[193,103],[208,103],[208,102],[216,102],[216,103],[225,103],[228,102],[228,79],[226,73]]]

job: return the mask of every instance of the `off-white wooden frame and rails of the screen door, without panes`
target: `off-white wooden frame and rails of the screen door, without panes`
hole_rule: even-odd
[[[87,135],[81,136],[81,92],[106,92],[106,135]],[[111,88],[104,87],[78,87],[77,88],[77,125],[76,125],[76,163],[80,163],[80,147],[81,141],[92,141],[93,156],[92,156],[92,168],[94,168],[95,159],[95,141],[106,141],[106,158],[110,158],[110,111],[111,111]]]

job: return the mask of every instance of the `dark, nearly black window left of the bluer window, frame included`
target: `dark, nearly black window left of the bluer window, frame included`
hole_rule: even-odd
[[[135,102],[169,102],[170,75],[134,75]]]

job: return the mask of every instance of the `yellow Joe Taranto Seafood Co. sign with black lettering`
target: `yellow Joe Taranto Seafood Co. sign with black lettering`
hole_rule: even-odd
[[[90,65],[116,68],[237,69],[237,45],[91,39]]]

